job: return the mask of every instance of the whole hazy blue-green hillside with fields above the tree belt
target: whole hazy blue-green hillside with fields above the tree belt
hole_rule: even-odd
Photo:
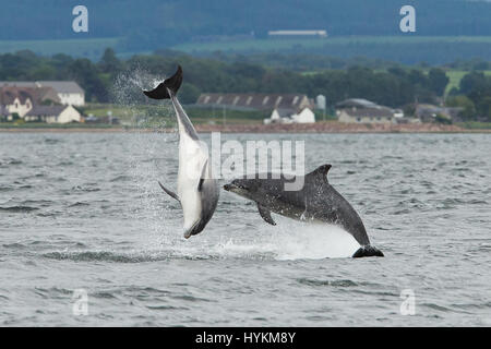
[[[73,33],[75,0],[3,1],[0,52],[32,49],[97,58],[101,47],[119,53],[177,48],[364,56],[415,63],[479,57],[491,59],[491,2],[411,0],[417,32],[402,34],[394,0],[85,0],[88,33]],[[19,15],[22,14],[22,15]],[[326,40],[268,40],[274,29],[326,29]],[[364,35],[364,36],[361,36]],[[235,40],[238,37],[255,40]],[[35,41],[34,41],[35,40]],[[215,43],[204,43],[215,40]]]

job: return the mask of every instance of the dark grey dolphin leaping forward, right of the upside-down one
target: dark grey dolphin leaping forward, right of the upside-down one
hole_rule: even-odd
[[[380,250],[370,245],[367,230],[355,208],[328,183],[330,169],[331,165],[323,165],[306,174],[300,181],[303,183],[300,190],[285,190],[287,182],[299,182],[298,178],[282,174],[274,179],[272,173],[235,179],[224,189],[254,201],[261,217],[271,225],[276,225],[271,217],[272,212],[297,220],[338,225],[360,244],[352,257],[383,256]]]

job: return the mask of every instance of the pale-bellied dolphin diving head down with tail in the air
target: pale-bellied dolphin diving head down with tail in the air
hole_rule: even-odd
[[[160,182],[161,189],[176,198],[184,216],[184,238],[203,231],[212,218],[219,196],[218,185],[212,177],[207,147],[200,141],[193,124],[182,109],[176,94],[182,83],[182,68],[153,91],[143,93],[153,99],[169,99],[176,111],[179,129],[179,170],[177,194]]]

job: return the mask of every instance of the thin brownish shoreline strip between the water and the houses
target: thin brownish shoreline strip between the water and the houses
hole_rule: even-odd
[[[464,129],[436,123],[422,124],[350,124],[316,122],[296,124],[196,124],[199,133],[491,133],[491,129]],[[173,128],[1,128],[0,133],[124,133],[124,132],[175,132]]]

